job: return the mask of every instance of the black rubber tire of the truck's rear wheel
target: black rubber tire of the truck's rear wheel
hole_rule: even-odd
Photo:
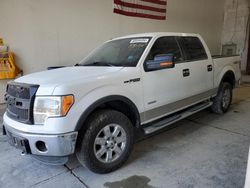
[[[223,82],[219,88],[217,96],[213,99],[213,105],[211,106],[212,112],[216,114],[224,114],[228,111],[232,103],[233,86],[228,82]],[[228,103],[224,104],[225,93],[228,92]]]

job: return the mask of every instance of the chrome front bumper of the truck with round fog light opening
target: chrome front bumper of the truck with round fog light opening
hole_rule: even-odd
[[[75,152],[78,132],[66,134],[31,134],[16,130],[4,124],[10,145],[28,154],[62,157]]]

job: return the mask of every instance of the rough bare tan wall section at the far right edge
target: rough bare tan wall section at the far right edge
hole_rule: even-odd
[[[242,56],[242,70],[246,70],[248,51],[249,0],[226,0],[222,44],[237,44],[237,53]]]

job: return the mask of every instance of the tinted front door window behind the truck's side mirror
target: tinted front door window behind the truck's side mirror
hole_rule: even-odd
[[[151,48],[147,60],[154,60],[156,55],[173,54],[175,63],[183,61],[181,50],[175,37],[161,37],[157,39]]]

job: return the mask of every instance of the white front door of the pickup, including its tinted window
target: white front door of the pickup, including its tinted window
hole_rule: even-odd
[[[174,111],[184,98],[190,96],[189,86],[186,81],[189,75],[188,72],[185,72],[190,67],[188,63],[184,62],[176,37],[158,38],[145,62],[152,61],[155,56],[161,54],[174,55],[175,67],[150,72],[143,71],[146,112],[142,123],[147,123]],[[176,105],[178,101],[179,104]]]

